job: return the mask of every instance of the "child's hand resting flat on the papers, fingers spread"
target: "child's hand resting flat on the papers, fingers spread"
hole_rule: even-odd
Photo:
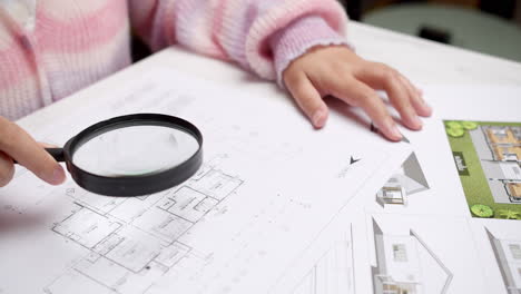
[[[402,135],[374,89],[385,90],[403,124],[411,129],[422,128],[419,115],[427,117],[432,112],[421,91],[404,76],[383,63],[366,61],[346,47],[311,50],[289,65],[283,79],[316,128],[322,128],[327,119],[327,106],[322,98],[328,95],[362,107],[391,140],[400,140]]]

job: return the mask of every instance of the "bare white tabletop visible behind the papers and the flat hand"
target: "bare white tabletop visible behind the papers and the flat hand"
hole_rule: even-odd
[[[385,62],[413,80],[420,87],[450,86],[521,86],[521,63],[469,50],[392,32],[351,21],[350,41],[363,58]],[[237,66],[201,57],[181,48],[171,47],[79,91],[59,102],[29,115],[18,122],[29,131],[66,116],[71,109],[88,105],[104,91],[125,86],[128,77],[158,65],[171,65],[180,71],[219,81],[223,85],[254,91],[266,97],[285,95],[269,81],[263,81]],[[289,100],[289,99],[288,99]]]

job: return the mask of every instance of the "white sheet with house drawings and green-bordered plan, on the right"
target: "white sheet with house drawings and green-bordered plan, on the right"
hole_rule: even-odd
[[[402,167],[372,177],[382,188],[361,189],[276,293],[521,293],[521,88],[424,90],[435,112],[404,130]]]

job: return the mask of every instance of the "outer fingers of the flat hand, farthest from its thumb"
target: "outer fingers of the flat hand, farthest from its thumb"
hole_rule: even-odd
[[[422,128],[417,115],[429,116],[432,110],[405,77],[385,65],[374,62],[367,62],[356,77],[375,89],[385,90],[406,127],[416,130]]]

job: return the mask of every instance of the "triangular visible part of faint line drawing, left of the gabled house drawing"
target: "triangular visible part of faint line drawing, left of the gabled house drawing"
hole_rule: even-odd
[[[293,294],[354,294],[352,226],[313,265]]]

